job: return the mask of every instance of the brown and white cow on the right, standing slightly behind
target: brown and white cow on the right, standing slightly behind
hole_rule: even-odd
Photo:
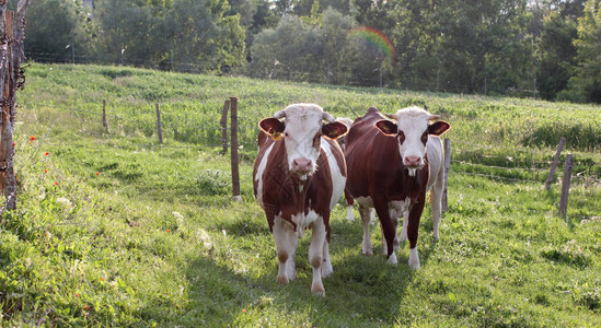
[[[409,267],[419,268],[417,233],[419,219],[430,190],[435,238],[438,238],[440,201],[443,188],[443,152],[438,136],[450,125],[418,107],[382,116],[375,107],[355,120],[347,134],[345,157],[346,188],[359,203],[363,221],[362,251],[371,255],[369,209],[374,208],[385,241],[388,262],[396,265],[396,226],[404,216],[401,241],[409,239]]]

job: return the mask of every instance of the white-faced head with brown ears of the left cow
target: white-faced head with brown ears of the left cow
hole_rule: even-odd
[[[314,104],[290,105],[261,120],[258,127],[275,140],[284,139],[289,169],[301,178],[316,169],[321,137],[336,139],[348,130]]]

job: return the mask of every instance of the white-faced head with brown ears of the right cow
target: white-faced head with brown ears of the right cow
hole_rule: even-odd
[[[440,136],[451,126],[441,120],[430,124],[439,116],[431,115],[419,107],[400,109],[396,114],[388,116],[393,121],[382,119],[375,122],[375,127],[384,136],[396,138],[403,165],[409,169],[409,175],[413,176],[425,164],[424,156],[428,136]]]

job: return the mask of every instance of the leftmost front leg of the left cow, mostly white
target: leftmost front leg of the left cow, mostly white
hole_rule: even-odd
[[[292,226],[280,216],[276,216],[274,222],[274,241],[278,257],[278,282],[287,284],[296,278],[294,254],[298,239]]]

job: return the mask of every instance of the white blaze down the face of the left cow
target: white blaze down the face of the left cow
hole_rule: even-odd
[[[322,107],[314,104],[296,104],[286,109],[286,133],[285,143],[288,153],[288,164],[297,159],[307,159],[314,167],[320,155],[319,148],[313,147],[313,139],[322,128],[324,112]]]

